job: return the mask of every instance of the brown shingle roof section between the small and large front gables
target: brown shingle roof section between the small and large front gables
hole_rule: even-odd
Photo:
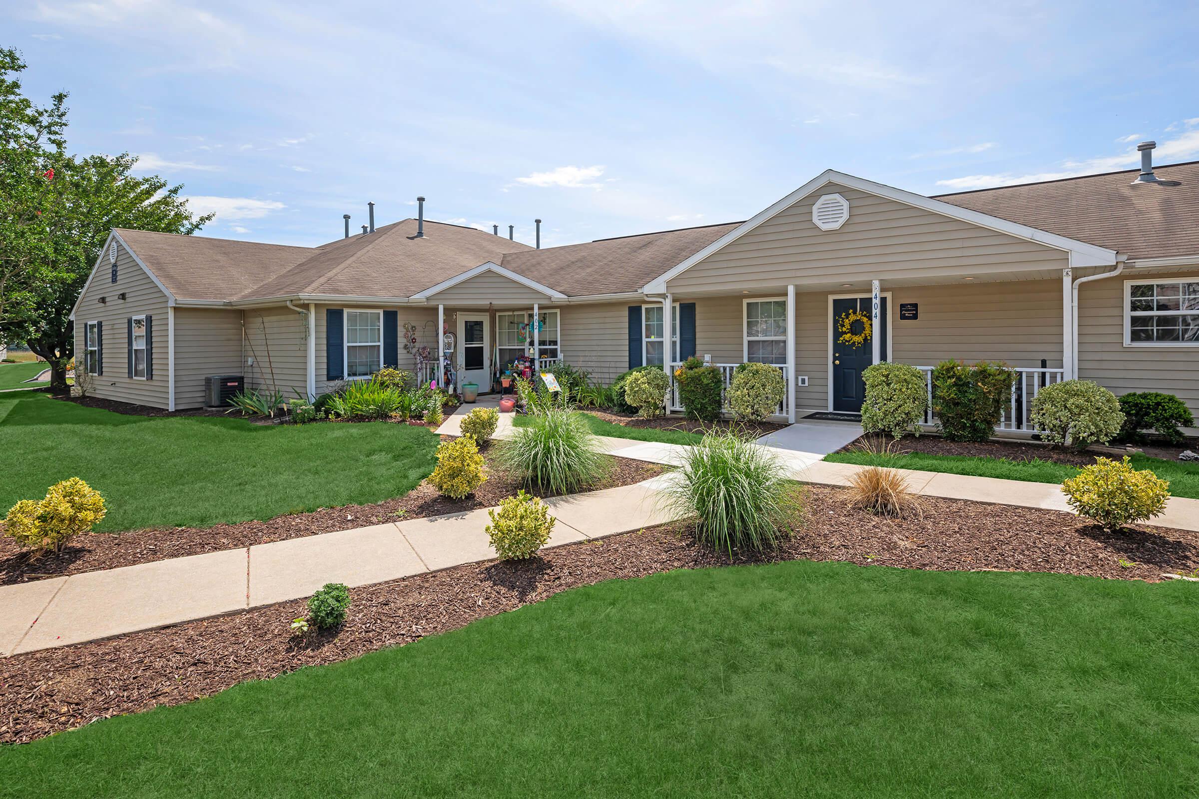
[[[501,266],[568,297],[637,291],[740,224],[729,222],[524,250],[505,255]]]

